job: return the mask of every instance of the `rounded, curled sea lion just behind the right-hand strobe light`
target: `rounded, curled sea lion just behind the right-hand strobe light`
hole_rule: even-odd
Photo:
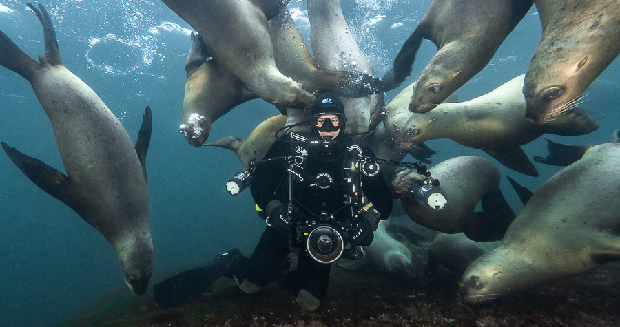
[[[415,202],[411,190],[422,186],[425,176],[412,169],[399,171],[392,182],[392,189],[411,220],[442,233],[462,232],[477,242],[502,239],[515,213],[499,189],[501,176],[492,162],[462,156],[428,170],[432,178],[440,181],[436,188],[448,200],[443,209],[430,209]],[[482,203],[482,212],[475,212],[478,202]]]

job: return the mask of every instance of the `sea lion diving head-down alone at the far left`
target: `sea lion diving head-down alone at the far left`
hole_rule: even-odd
[[[153,273],[149,231],[149,194],[145,170],[151,112],[147,107],[136,146],[101,98],[61,61],[48,12],[31,3],[45,36],[40,63],[0,32],[0,65],[30,82],[52,122],[56,145],[67,171],[60,171],[2,143],[9,158],[43,191],[61,200],[112,245],[127,284],[136,294]]]

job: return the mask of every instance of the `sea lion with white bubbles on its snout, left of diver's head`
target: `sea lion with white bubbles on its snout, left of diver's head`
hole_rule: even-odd
[[[192,45],[185,61],[183,124],[179,131],[189,144],[201,147],[211,133],[211,125],[231,109],[257,98],[237,76],[209,58],[200,35],[192,32]]]

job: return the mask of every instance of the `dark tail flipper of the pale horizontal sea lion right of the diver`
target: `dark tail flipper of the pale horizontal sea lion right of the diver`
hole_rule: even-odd
[[[566,110],[553,120],[542,124],[543,130],[548,134],[560,136],[578,136],[592,133],[599,129],[599,123],[585,110],[574,107]]]

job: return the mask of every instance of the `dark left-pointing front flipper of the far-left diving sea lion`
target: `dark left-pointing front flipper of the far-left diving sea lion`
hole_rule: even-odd
[[[6,152],[6,155],[11,159],[11,161],[26,177],[28,177],[29,180],[37,185],[39,189],[42,189],[50,196],[61,200],[78,214],[83,212],[78,207],[78,202],[70,196],[70,181],[65,174],[37,158],[32,158],[22,154],[20,151],[14,147],[9,147],[4,142],[1,144],[2,149]]]

